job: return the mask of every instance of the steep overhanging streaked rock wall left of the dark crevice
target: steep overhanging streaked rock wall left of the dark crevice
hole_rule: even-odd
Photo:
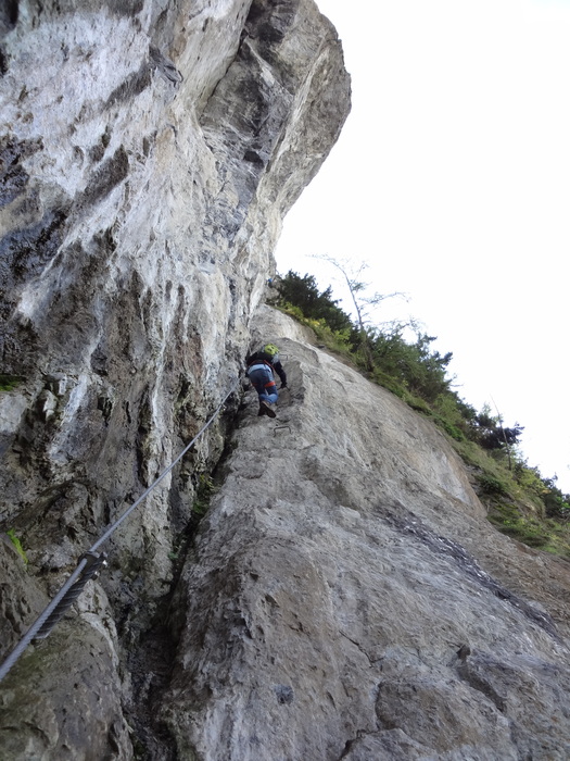
[[[238,383],[282,217],[349,109],[311,0],[2,3],[0,529],[29,560],[0,542],[2,654]],[[231,410],[106,542],[80,622],[11,672],[0,757],[151,747],[142,640]]]

